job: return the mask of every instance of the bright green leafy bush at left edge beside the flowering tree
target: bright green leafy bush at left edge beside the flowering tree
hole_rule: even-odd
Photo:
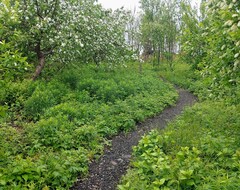
[[[16,48],[16,41],[22,37],[15,28],[19,23],[17,11],[17,4],[11,6],[9,0],[0,2],[0,85],[23,78],[29,69],[27,58]]]

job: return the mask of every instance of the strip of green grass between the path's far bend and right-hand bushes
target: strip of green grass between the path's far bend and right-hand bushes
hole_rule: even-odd
[[[198,96],[199,100],[225,101],[227,104],[240,102],[240,87],[238,81],[235,85],[218,85],[218,81],[210,76],[203,76],[201,71],[194,70],[191,64],[174,62],[174,70],[163,63],[159,67],[159,75],[167,81],[188,89]]]

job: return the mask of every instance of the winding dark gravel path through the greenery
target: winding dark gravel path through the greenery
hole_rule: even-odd
[[[139,124],[128,134],[121,133],[112,139],[111,149],[90,165],[87,179],[78,180],[72,190],[114,190],[122,175],[126,173],[131,159],[132,146],[138,144],[141,137],[154,128],[164,128],[169,120],[179,115],[185,106],[196,101],[191,93],[178,89],[179,99],[174,107],[166,108],[160,115]]]

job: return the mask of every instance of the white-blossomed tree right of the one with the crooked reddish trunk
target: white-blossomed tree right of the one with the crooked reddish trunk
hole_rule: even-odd
[[[78,60],[97,65],[122,63],[129,52],[124,38],[127,22],[127,12],[123,9],[112,12],[98,5],[93,11],[86,7],[76,27],[84,44]]]

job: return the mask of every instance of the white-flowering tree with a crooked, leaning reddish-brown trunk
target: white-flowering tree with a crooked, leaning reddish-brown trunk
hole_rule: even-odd
[[[81,13],[80,8],[81,4],[74,1],[23,0],[20,2],[19,27],[27,36],[25,51],[35,52],[38,59],[33,79],[42,72],[46,58],[52,55],[59,58],[66,55],[74,58],[77,51],[71,51],[73,47],[83,46],[74,31]]]

